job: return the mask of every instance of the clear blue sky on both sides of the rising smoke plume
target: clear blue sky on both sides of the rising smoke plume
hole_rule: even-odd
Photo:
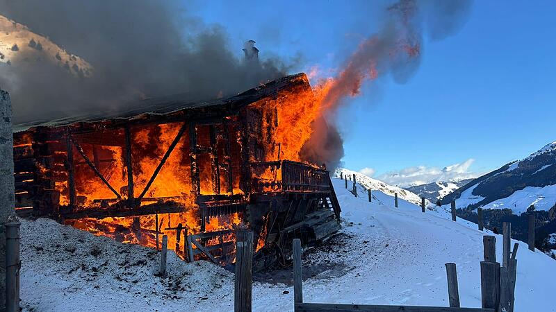
[[[295,64],[291,71],[316,65],[327,71],[377,31],[388,3],[298,2],[186,7],[226,28],[238,55],[252,39],[261,58],[277,55]],[[407,83],[368,83],[336,116],[344,165],[370,167],[385,178],[404,168],[427,173],[475,159],[463,171],[480,173],[556,141],[555,11],[556,1],[475,1],[459,33],[434,42],[425,37],[420,68]]]

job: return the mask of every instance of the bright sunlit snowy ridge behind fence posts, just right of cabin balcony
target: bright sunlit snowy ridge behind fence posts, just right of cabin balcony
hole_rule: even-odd
[[[334,177],[340,177],[340,173],[343,175],[355,175],[358,184],[361,184],[365,189],[370,189],[371,191],[381,191],[389,196],[394,196],[394,193],[398,193],[398,198],[402,198],[411,202],[415,205],[421,205],[421,198],[417,194],[408,191],[407,189],[402,189],[401,187],[394,187],[393,185],[386,184],[382,181],[373,179],[372,177],[368,177],[367,175],[363,175],[363,173],[359,173],[357,171],[352,171],[346,168],[336,168],[334,172]],[[348,189],[352,188],[352,182],[347,182]],[[425,205],[430,206],[432,203],[427,200],[425,201]]]

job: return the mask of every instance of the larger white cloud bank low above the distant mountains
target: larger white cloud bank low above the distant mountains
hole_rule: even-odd
[[[470,158],[461,164],[452,164],[444,168],[427,166],[407,167],[399,171],[384,173],[379,175],[377,179],[400,187],[427,184],[437,181],[453,182],[471,179],[480,175],[480,173],[469,171],[469,167],[473,162],[475,162],[475,159]]]

